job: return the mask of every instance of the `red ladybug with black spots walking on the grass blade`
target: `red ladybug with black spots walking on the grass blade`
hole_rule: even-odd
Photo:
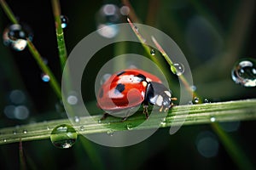
[[[172,99],[176,98],[172,98],[171,90],[158,77],[143,70],[127,69],[114,73],[102,84],[97,94],[97,105],[111,113],[129,111],[143,104],[143,113],[148,118],[148,104],[159,106],[160,111],[167,111],[173,105]]]

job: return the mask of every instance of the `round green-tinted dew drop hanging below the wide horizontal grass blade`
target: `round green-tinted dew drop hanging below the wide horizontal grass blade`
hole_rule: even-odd
[[[50,134],[52,144],[60,149],[70,148],[73,146],[77,138],[78,133],[72,126],[67,124],[62,124],[55,127]]]

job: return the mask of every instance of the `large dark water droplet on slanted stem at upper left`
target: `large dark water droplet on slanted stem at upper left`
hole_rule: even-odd
[[[3,31],[3,43],[16,51],[22,51],[26,48],[26,38],[32,41],[32,30],[29,26],[13,24]]]

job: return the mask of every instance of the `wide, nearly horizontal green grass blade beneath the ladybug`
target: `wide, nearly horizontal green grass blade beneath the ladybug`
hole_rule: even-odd
[[[189,115],[187,113],[189,112]],[[139,114],[141,113],[141,114]],[[125,131],[127,125],[137,127],[137,130],[150,129],[157,127],[177,126],[180,122],[183,125],[197,125],[212,123],[212,117],[215,122],[232,122],[232,121],[246,121],[256,120],[256,99],[237,100],[229,102],[207,103],[198,105],[177,105],[166,116],[166,121],[160,123],[160,114],[149,116],[147,126],[138,126],[145,121],[143,111],[138,111],[137,114],[128,118],[127,121],[121,122],[119,117],[109,116],[105,121],[98,122],[102,115],[98,116],[84,116],[80,117],[79,126],[74,126],[78,129],[79,134],[89,133],[108,133],[109,130]],[[175,117],[175,122],[173,121]],[[96,120],[91,122],[91,119]],[[22,141],[30,141],[37,139],[49,139],[51,130],[58,124],[70,123],[68,119],[53,120],[49,122],[37,122],[28,125],[17,127],[4,127],[0,129],[0,144],[9,144]],[[81,130],[80,127],[83,126]],[[22,133],[26,129],[26,133]],[[14,135],[14,130],[17,132]],[[134,128],[131,130],[135,130]]]

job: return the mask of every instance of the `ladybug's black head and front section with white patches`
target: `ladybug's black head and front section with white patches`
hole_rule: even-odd
[[[172,107],[172,93],[162,83],[149,82],[145,98],[150,104],[160,107],[160,111]]]

